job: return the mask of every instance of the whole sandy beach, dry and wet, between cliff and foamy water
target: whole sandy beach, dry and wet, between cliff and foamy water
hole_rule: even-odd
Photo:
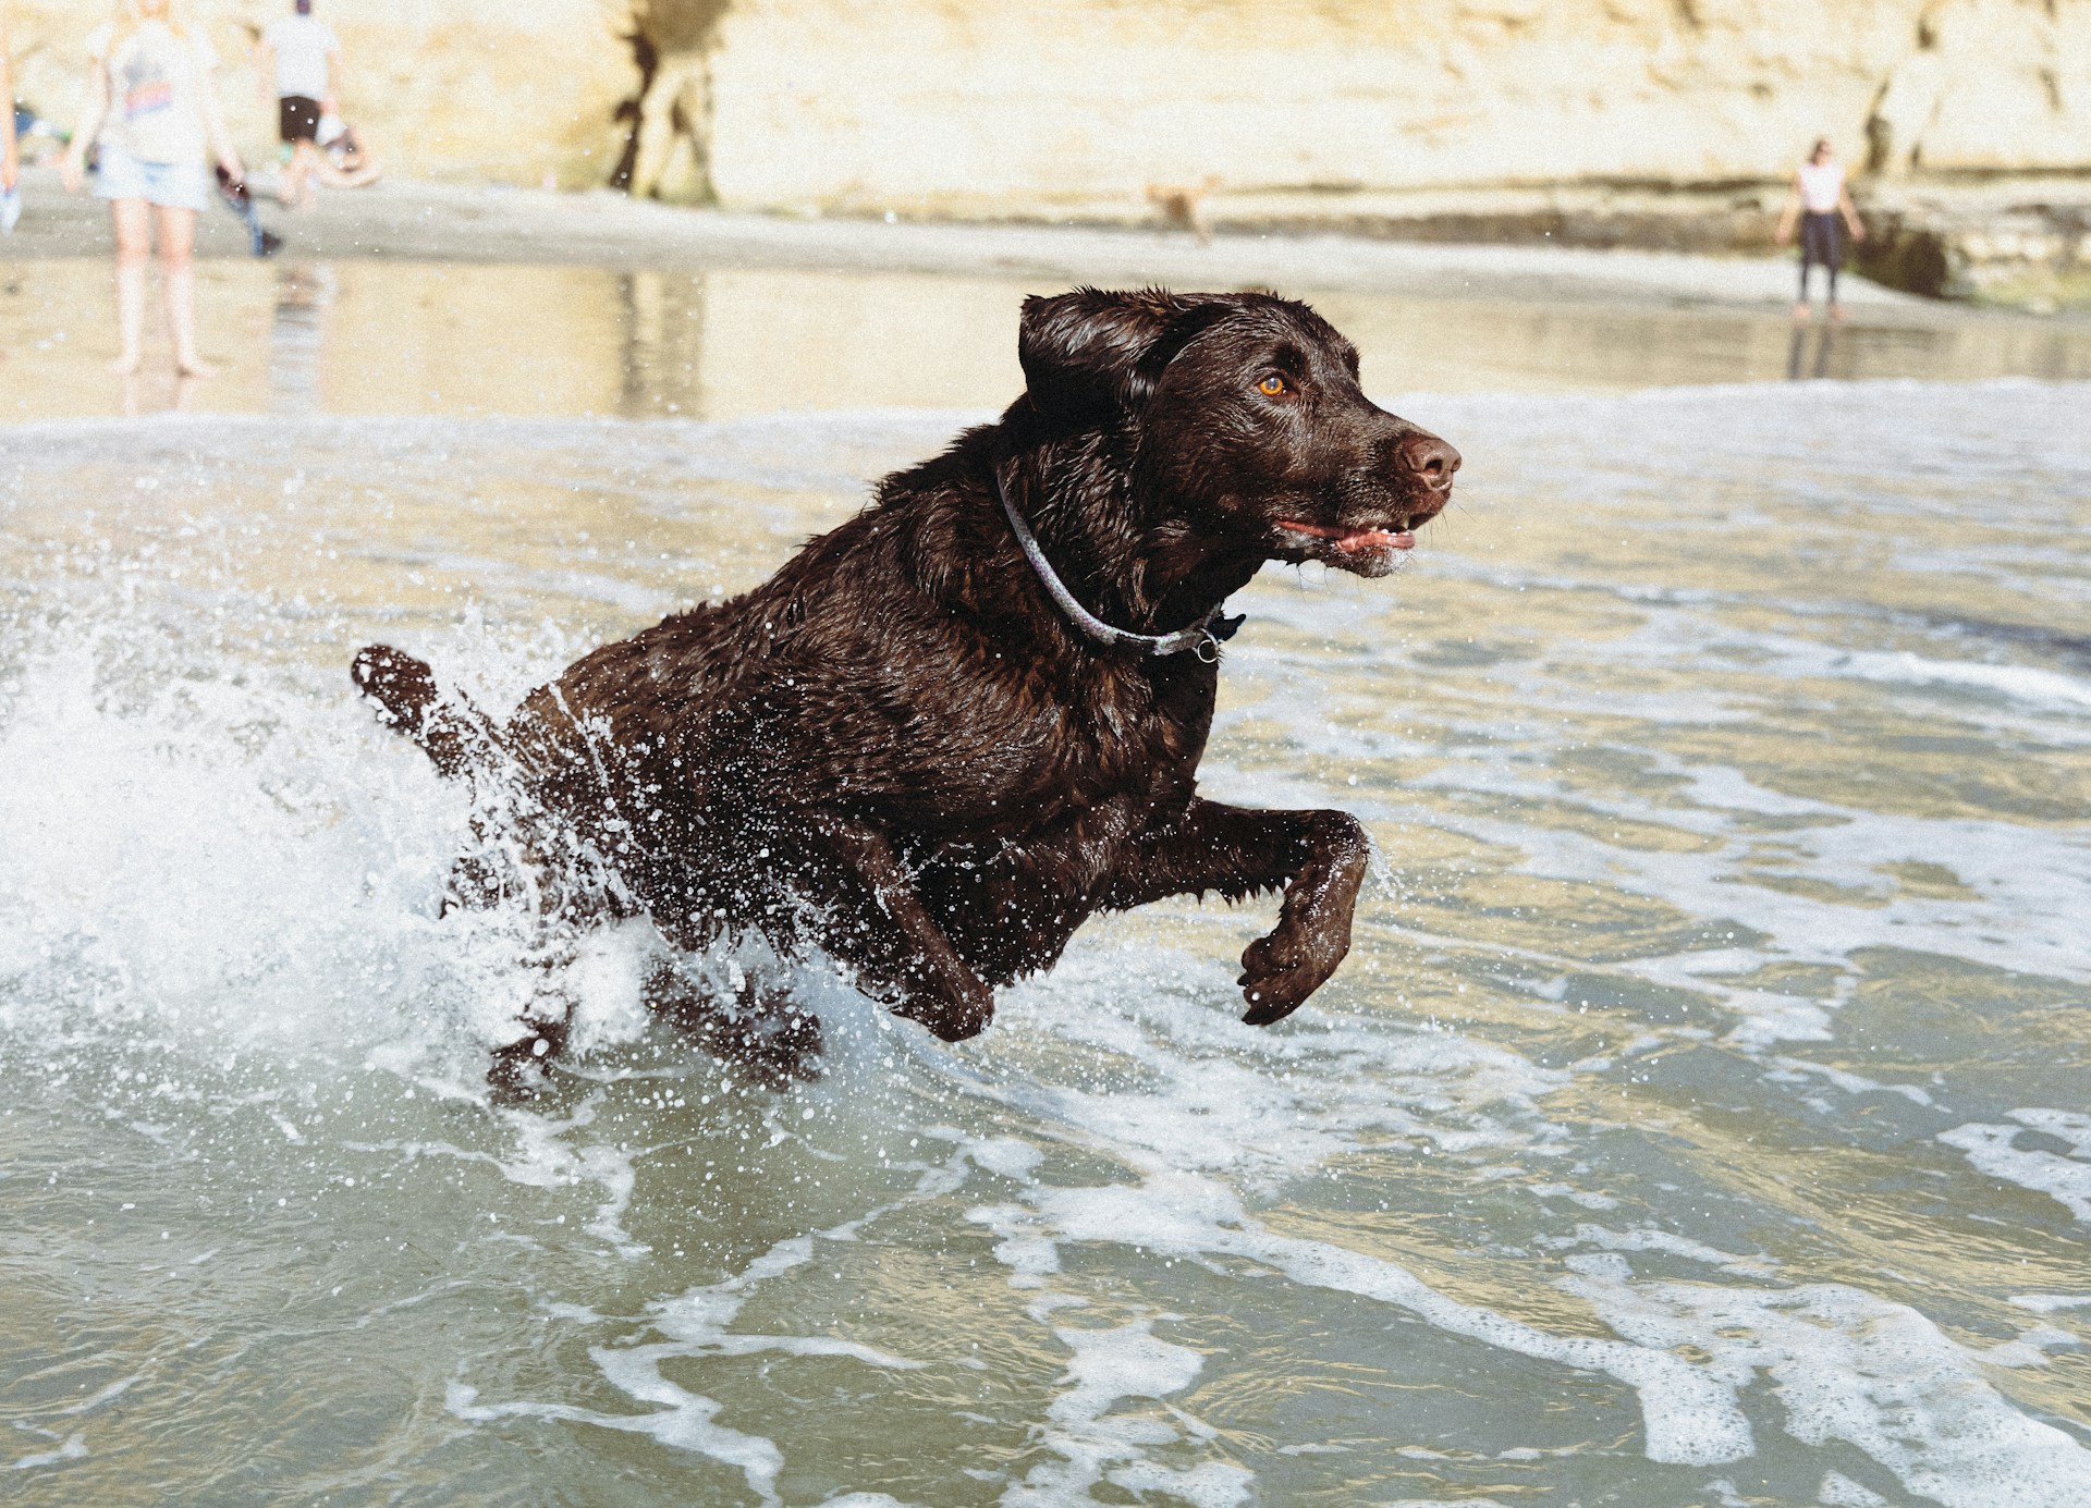
[[[1018,391],[1014,320],[1071,284],[1265,287],[1351,335],[1378,393],[1635,391],[1779,379],[2091,376],[2091,320],[1892,293],[1796,328],[1788,257],[1395,243],[1334,234],[926,224],[680,209],[613,192],[385,182],[291,213],[282,253],[201,222],[220,374],[115,381],[100,201],[25,174],[0,278],[0,416],[217,412],[703,416]],[[1817,280],[1819,282],[1819,280]]]

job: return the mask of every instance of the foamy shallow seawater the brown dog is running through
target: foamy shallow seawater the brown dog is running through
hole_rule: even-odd
[[[805,966],[769,1094],[627,929],[487,1104],[533,970],[349,650],[514,699],[759,579],[1012,387],[939,297],[997,353],[897,383],[989,343],[870,303],[824,412],[772,301],[705,420],[345,416],[322,322],[213,385],[274,412],[0,431],[0,1495],[2091,1502],[2083,385],[1414,393],[1330,299],[1468,456],[1397,579],[1236,600],[1207,789],[1382,851],[1336,981],[1242,1027],[1269,906],[1156,906],[947,1048]],[[1495,385],[1614,387],[1577,341]]]

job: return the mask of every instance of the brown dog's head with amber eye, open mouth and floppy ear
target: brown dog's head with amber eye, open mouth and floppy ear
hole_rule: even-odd
[[[1386,575],[1451,500],[1460,452],[1357,385],[1357,351],[1263,293],[1025,299],[1018,358],[1052,425],[1123,429],[1140,494],[1271,561]]]

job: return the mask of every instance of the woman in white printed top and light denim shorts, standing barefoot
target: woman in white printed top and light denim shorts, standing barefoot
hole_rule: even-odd
[[[117,232],[115,372],[136,372],[144,339],[144,264],[159,220],[159,270],[174,360],[207,376],[197,356],[197,211],[209,203],[209,157],[240,182],[247,174],[211,94],[211,52],[180,0],[119,0],[115,19],[88,38],[94,73],[88,111],[65,153],[65,188],[79,190],[88,144],[100,148],[94,192],[109,201]]]

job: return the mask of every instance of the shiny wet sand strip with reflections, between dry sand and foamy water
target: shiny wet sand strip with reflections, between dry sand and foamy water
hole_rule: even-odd
[[[1020,276],[401,261],[211,261],[199,391],[148,349],[113,383],[107,264],[33,261],[0,282],[0,418],[153,412],[738,418],[790,410],[995,408],[1018,389]],[[1779,376],[2091,376],[2091,328],[1869,312],[1832,335],[1713,307],[1420,299],[1290,289],[1349,333],[1365,385],[1631,391]]]

